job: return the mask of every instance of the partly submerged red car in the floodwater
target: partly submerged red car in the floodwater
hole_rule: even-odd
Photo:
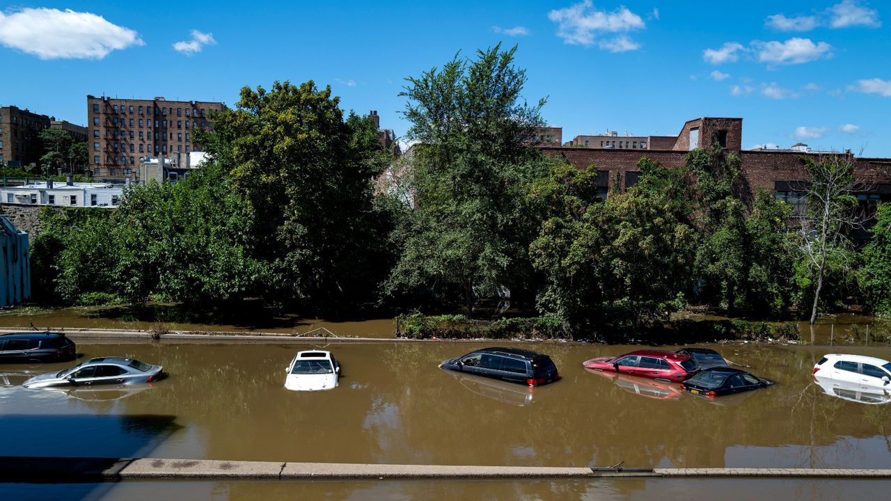
[[[641,349],[618,357],[597,357],[585,361],[584,368],[650,379],[682,382],[699,372],[699,365],[686,355],[659,349]]]

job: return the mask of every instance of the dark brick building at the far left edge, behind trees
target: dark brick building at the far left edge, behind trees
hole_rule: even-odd
[[[38,135],[50,118],[15,106],[0,107],[0,165],[20,168],[38,163],[43,148]]]

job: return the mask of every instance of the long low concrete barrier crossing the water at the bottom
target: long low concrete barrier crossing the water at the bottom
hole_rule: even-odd
[[[810,468],[586,468],[435,464],[280,463],[212,459],[0,456],[0,481],[420,480],[661,478],[891,479],[891,470]]]

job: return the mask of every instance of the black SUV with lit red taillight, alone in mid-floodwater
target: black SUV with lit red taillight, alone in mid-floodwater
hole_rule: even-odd
[[[551,357],[528,349],[486,348],[446,360],[444,369],[540,386],[560,379]]]

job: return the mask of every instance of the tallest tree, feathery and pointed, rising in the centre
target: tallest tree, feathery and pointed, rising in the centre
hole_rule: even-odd
[[[416,209],[394,234],[400,253],[388,292],[460,292],[472,313],[478,297],[515,296],[527,283],[537,221],[528,218],[526,186],[550,162],[523,144],[543,125],[544,100],[522,100],[526,71],[514,65],[516,50],[496,45],[406,78],[406,136],[419,143]]]

